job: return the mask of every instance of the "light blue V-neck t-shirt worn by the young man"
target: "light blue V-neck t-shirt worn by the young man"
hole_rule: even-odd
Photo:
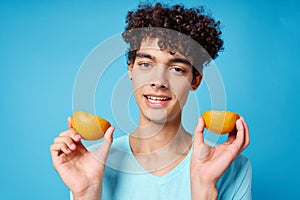
[[[93,145],[93,151],[99,144]],[[114,140],[106,161],[103,200],[189,200],[190,158],[188,155],[163,176],[147,172],[131,152],[129,136]],[[252,170],[249,160],[239,155],[217,183],[218,199],[251,199]],[[72,199],[72,198],[71,198]]]

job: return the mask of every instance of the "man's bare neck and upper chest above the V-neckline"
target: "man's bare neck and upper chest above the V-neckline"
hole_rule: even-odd
[[[130,135],[131,150],[137,161],[150,173],[163,176],[188,154],[192,137],[181,124],[181,115],[165,123],[140,120]]]

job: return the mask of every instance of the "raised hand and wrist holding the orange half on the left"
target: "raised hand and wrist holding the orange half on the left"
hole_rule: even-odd
[[[99,149],[89,152],[81,143],[80,135],[72,128],[71,120],[69,117],[69,129],[61,132],[50,146],[54,168],[72,191],[74,199],[99,199],[114,127],[105,132]]]

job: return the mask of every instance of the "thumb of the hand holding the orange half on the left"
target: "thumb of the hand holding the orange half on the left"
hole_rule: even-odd
[[[113,141],[112,135],[114,132],[115,128],[113,126],[109,127],[107,129],[107,131],[104,134],[104,139],[102,141],[102,144],[100,145],[100,147],[98,148],[97,151],[94,152],[93,155],[96,156],[97,160],[99,160],[101,163],[105,163],[109,150],[110,150],[110,146],[111,143]]]

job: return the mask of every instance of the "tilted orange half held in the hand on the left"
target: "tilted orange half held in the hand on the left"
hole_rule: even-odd
[[[103,137],[110,123],[96,115],[82,111],[75,111],[72,118],[72,127],[85,140],[98,140]]]

